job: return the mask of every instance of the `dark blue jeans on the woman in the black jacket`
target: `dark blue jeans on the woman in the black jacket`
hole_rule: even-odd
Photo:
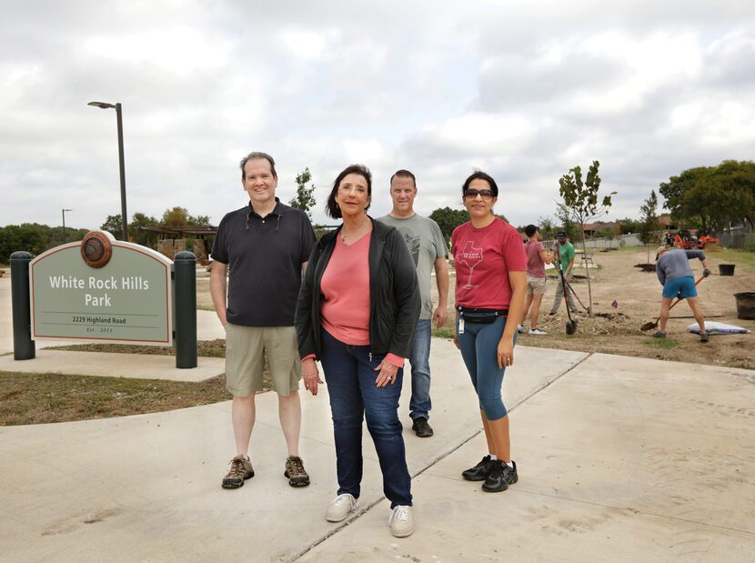
[[[390,508],[411,506],[411,478],[398,420],[404,370],[396,382],[376,387],[375,368],[385,355],[370,354],[369,346],[351,346],[322,331],[320,362],[325,372],[330,413],[336,437],[338,494],[359,497],[362,481],[362,418],[372,436],[383,472],[383,493]]]

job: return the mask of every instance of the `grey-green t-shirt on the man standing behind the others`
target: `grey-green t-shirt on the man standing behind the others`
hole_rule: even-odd
[[[438,223],[429,217],[417,214],[406,219],[398,219],[392,216],[377,218],[385,225],[395,226],[409,248],[409,254],[414,258],[417,266],[417,279],[419,282],[419,297],[422,300],[422,311],[419,318],[428,320],[433,317],[433,301],[430,297],[432,287],[430,275],[432,274],[435,261],[440,257],[448,257],[448,246],[443,233],[440,232]]]

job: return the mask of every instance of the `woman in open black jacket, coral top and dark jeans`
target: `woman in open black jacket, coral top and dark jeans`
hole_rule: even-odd
[[[343,218],[312,249],[297,304],[297,336],[307,390],[317,395],[322,363],[336,438],[337,497],[326,518],[354,509],[362,479],[362,418],[375,443],[388,525],[397,537],[414,531],[403,427],[398,420],[404,358],[419,317],[414,261],[398,231],[367,216],[372,176],[352,165],[336,178],[327,213]]]

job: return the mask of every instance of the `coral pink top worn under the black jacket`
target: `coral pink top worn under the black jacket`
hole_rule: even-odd
[[[340,236],[320,282],[322,326],[352,346],[369,345],[369,241],[372,231],[353,245]],[[306,358],[304,358],[306,359]],[[404,366],[404,358],[388,354],[386,361]]]

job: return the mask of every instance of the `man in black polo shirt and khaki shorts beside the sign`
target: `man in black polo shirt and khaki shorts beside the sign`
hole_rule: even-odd
[[[245,157],[241,185],[249,203],[228,213],[217,227],[210,271],[210,294],[226,328],[226,387],[233,395],[231,420],[237,453],[223,478],[223,488],[239,488],[255,475],[247,454],[266,357],[288,448],[284,474],[291,487],[305,487],[309,476],[298,453],[301,361],[294,313],[315,233],[305,213],[276,197],[272,156],[250,153]]]

